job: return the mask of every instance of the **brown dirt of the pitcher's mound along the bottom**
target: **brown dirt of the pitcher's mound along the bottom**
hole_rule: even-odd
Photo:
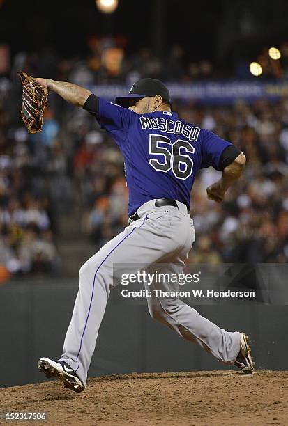
[[[4,413],[46,413],[13,425],[288,425],[288,372],[126,374],[91,378],[82,393],[60,381],[0,389]]]

